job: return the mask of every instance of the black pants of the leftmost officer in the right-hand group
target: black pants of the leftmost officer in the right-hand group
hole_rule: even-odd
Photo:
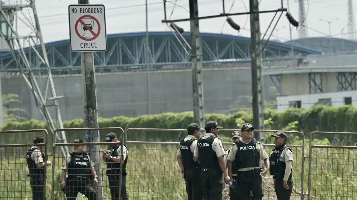
[[[201,168],[185,170],[186,192],[188,200],[203,200]]]

